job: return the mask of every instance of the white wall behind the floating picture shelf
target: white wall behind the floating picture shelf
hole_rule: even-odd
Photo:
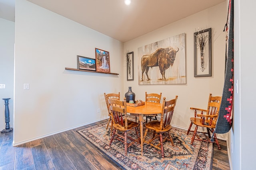
[[[77,68],[76,55],[95,58],[95,48],[110,52],[119,75],[65,70]],[[120,41],[16,0],[14,145],[108,117],[103,93],[123,93],[122,56]]]

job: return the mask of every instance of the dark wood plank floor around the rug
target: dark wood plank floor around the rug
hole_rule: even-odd
[[[92,125],[17,147],[12,147],[12,132],[0,133],[0,170],[121,170],[76,132],[90,126]],[[212,169],[229,170],[226,141],[220,140],[220,143],[221,150],[214,147]]]

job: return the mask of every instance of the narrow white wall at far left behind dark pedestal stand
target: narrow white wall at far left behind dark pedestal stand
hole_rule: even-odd
[[[14,25],[9,20],[0,18],[0,131],[5,129],[4,100],[9,100],[10,127],[13,127],[13,74],[14,74]]]

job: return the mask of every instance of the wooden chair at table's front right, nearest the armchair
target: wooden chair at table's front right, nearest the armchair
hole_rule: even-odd
[[[172,146],[174,146],[174,143],[172,141],[172,137],[170,135],[170,130],[172,129],[171,121],[172,121],[172,115],[174,113],[174,108],[176,106],[178,96],[176,96],[174,99],[166,101],[166,98],[163,98],[162,103],[162,113],[161,113],[161,120],[152,120],[148,123],[145,123],[146,131],[144,133],[144,142],[151,145],[152,147],[155,147],[156,149],[161,150],[162,158],[164,158],[164,146],[163,143],[166,140],[169,140],[172,143]],[[148,130],[153,131],[153,135],[151,139],[147,139],[147,133]],[[156,135],[158,134],[158,135]],[[155,139],[159,137],[160,143],[155,144]]]

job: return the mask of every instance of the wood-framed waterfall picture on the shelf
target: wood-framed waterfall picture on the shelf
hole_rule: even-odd
[[[110,73],[109,52],[95,48],[96,71]]]

